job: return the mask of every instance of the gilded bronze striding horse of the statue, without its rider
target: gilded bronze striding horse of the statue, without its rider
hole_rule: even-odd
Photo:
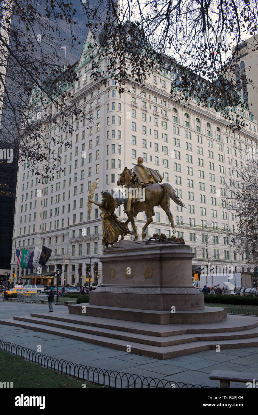
[[[124,168],[122,173],[120,174],[120,179],[117,181],[118,186],[124,185],[125,188],[132,187],[132,182],[130,181],[132,177],[133,171],[132,169],[128,169],[127,167]],[[169,183],[153,183],[149,186],[145,187],[145,200],[133,202],[132,210],[133,212],[127,213],[128,220],[125,222],[128,225],[131,222],[133,227],[133,231],[135,234],[134,240],[138,239],[138,234],[135,226],[134,217],[137,217],[139,212],[145,212],[147,216],[147,222],[145,223],[144,227],[142,228],[142,239],[146,238],[145,230],[149,226],[151,222],[153,222],[152,216],[154,216],[154,206],[160,206],[166,213],[167,217],[169,218],[169,222],[171,223],[172,232],[175,231],[174,228],[174,217],[170,210],[170,199],[174,200],[174,202],[179,205],[186,207],[182,200],[178,198],[176,195],[175,190]],[[127,203],[124,203],[124,208],[126,209]]]

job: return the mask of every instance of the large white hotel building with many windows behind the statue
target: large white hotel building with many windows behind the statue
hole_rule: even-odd
[[[94,198],[100,202],[101,191],[117,188],[119,173],[125,166],[135,165],[139,156],[144,158],[146,166],[163,175],[187,207],[178,207],[171,201],[177,235],[184,238],[195,254],[193,265],[207,264],[201,233],[210,232],[209,262],[217,266],[232,265],[236,271],[249,271],[246,257],[234,254],[228,245],[225,231],[227,227],[236,229],[236,218],[222,204],[224,183],[230,178],[235,161],[243,159],[244,162],[245,150],[258,145],[256,121],[245,112],[246,128],[240,134],[232,134],[224,117],[212,108],[203,108],[196,100],[186,106],[175,103],[170,98],[170,71],[165,69],[151,74],[144,88],[128,81],[122,94],[111,79],[106,87],[100,81],[93,82],[87,57],[88,41],[76,67],[79,81],[67,89],[67,96],[92,118],[92,123],[85,118],[73,122],[74,132],[68,137],[70,148],[53,146],[52,142],[51,149],[61,155],[64,169],[55,173],[53,181],[39,185],[26,165],[19,166],[12,272],[17,274],[16,248],[33,250],[35,245],[43,244],[53,250],[43,271],[53,272],[56,267],[62,267],[63,282],[85,283],[87,257],[95,256],[92,264],[98,263],[103,247],[100,210],[92,205],[90,220],[87,213],[89,186],[96,180]],[[103,60],[101,70],[106,71],[106,65]],[[64,139],[65,133],[58,125],[49,122],[45,128],[47,137]],[[37,190],[41,190],[41,197],[37,196]],[[120,220],[127,218],[123,206],[115,213]],[[136,220],[139,234],[144,223],[141,213]],[[86,229],[86,236],[82,236],[82,229]],[[154,221],[147,230],[150,236],[153,233],[171,235],[171,226],[160,207],[155,208]],[[16,281],[22,273],[19,270]],[[100,263],[98,269],[95,266],[95,273],[92,266],[91,274],[95,277],[93,282],[98,281],[97,275],[101,282]],[[45,276],[45,282],[49,283],[51,274]]]

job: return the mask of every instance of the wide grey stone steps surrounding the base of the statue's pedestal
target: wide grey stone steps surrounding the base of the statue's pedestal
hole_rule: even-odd
[[[192,326],[184,324],[179,325],[180,327],[157,326],[98,317],[71,316],[63,311],[15,316],[13,319],[2,319],[0,323],[121,351],[126,351],[130,345],[131,353],[157,359],[170,359],[215,349],[217,344],[221,349],[258,346],[258,318],[246,316],[228,316],[224,321],[217,322],[216,328],[219,329],[217,325],[220,325],[220,332],[212,330],[212,323]],[[202,327],[206,332],[201,333],[196,326],[200,326],[200,329]]]

